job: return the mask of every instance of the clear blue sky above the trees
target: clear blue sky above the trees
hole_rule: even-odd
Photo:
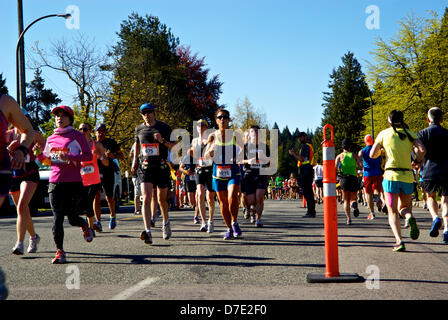
[[[95,40],[106,52],[116,43],[120,23],[132,12],[151,14],[171,28],[180,43],[205,56],[211,74],[224,82],[220,103],[232,111],[238,99],[249,98],[266,113],[271,125],[282,129],[314,129],[321,122],[323,91],[329,74],[347,51],[363,65],[372,61],[370,52],[378,37],[390,39],[398,21],[407,14],[442,15],[446,1],[431,0],[23,0],[24,24],[51,14],[64,13],[70,5],[80,10],[79,30],[69,30],[61,18],[38,22],[26,33],[26,58],[31,46],[49,49],[62,38],[81,33]],[[369,30],[369,5],[379,9],[379,29]],[[16,1],[0,5],[0,72],[15,96],[15,48],[17,44]],[[366,72],[367,70],[364,69]],[[43,69],[46,86],[65,104],[72,104],[74,86],[62,74]],[[33,71],[27,70],[27,81]]]

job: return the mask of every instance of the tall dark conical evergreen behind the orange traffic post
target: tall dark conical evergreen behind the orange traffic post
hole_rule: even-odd
[[[324,92],[322,127],[325,124],[334,127],[336,149],[341,150],[345,138],[361,144],[366,127],[362,118],[369,109],[369,88],[353,53],[346,53],[342,65],[333,69],[328,87],[331,91]]]

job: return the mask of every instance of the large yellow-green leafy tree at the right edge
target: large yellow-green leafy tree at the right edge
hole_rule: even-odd
[[[448,8],[442,19],[434,12],[426,19],[408,15],[399,22],[397,35],[388,42],[380,38],[372,54],[375,63],[368,70],[375,131],[388,126],[393,109],[403,111],[415,131],[426,127],[430,108],[448,111]]]

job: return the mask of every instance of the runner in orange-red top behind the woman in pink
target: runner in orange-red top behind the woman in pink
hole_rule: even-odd
[[[95,221],[94,201],[97,194],[101,194],[102,189],[98,161],[101,161],[103,166],[107,167],[109,166],[109,159],[106,157],[106,149],[104,146],[101,143],[95,143],[95,140],[91,137],[92,126],[89,123],[81,123],[78,130],[86,138],[92,153],[91,161],[81,162],[81,177],[82,184],[84,186],[84,210],[86,212],[90,229],[102,232],[103,230],[99,221]],[[95,232],[93,235],[95,236]]]

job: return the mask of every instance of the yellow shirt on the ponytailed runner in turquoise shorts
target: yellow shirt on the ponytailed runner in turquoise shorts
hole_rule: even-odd
[[[408,133],[417,139],[417,135],[406,129]],[[398,132],[404,132],[403,129],[397,129]],[[393,128],[388,128],[381,131],[376,137],[375,142],[382,145],[386,151],[386,165],[387,168],[409,169],[408,171],[392,171],[386,170],[384,172],[384,179],[389,181],[401,181],[406,183],[414,182],[414,173],[412,172],[411,151],[413,143],[406,136],[401,140]]]

